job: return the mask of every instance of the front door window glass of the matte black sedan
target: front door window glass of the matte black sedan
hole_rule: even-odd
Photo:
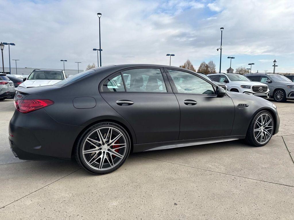
[[[215,94],[213,86],[191,73],[168,70],[179,93]]]

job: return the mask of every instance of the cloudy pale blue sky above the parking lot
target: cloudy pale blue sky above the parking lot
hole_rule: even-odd
[[[102,65],[168,65],[166,54],[174,53],[174,66],[189,58],[197,70],[213,60],[218,71],[224,27],[222,72],[234,56],[233,69],[254,62],[253,72],[272,72],[276,59],[277,72],[294,73],[293,0],[0,0],[0,10],[0,41],[16,44],[18,67],[62,68],[61,59],[66,69],[97,64],[101,12]],[[8,60],[5,47],[5,67]]]

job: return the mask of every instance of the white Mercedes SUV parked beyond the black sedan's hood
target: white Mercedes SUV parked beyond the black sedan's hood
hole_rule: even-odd
[[[207,76],[213,81],[225,83],[230,92],[240,92],[263,98],[268,98],[270,94],[270,90],[266,84],[252,82],[247,77],[238,73],[214,73]]]

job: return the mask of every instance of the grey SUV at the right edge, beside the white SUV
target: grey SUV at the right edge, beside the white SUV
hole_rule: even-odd
[[[262,82],[268,85],[270,97],[277,102],[294,99],[294,82],[283,75],[270,73],[253,73],[246,76],[254,82]]]

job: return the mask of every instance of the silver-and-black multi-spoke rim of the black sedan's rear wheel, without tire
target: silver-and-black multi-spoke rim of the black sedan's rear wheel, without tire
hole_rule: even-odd
[[[89,134],[83,143],[83,159],[94,170],[109,170],[126,154],[126,138],[116,128],[101,127]]]

